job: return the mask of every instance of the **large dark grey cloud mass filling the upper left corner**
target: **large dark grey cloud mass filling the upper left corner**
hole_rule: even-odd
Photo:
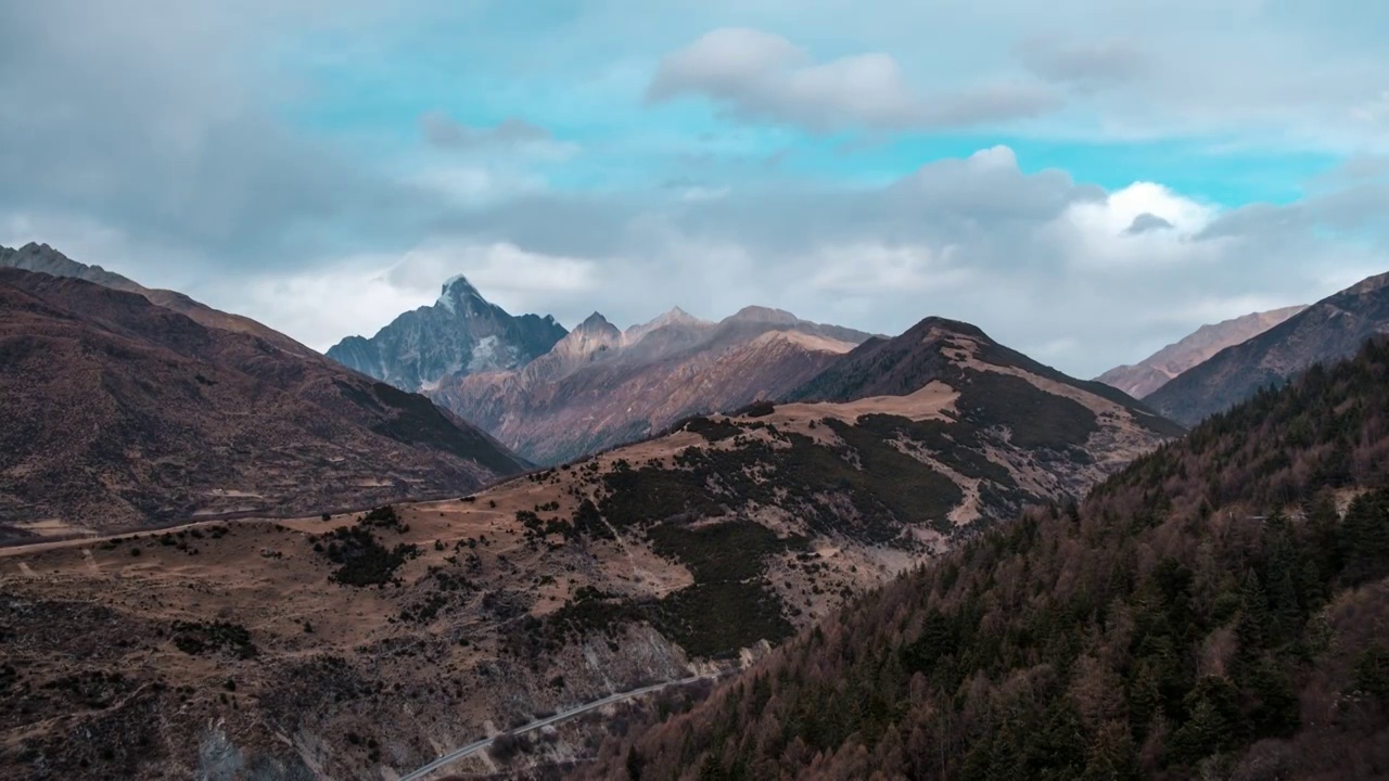
[[[410,231],[436,199],[294,132],[281,108],[301,85],[246,65],[285,25],[356,6],[0,4],[0,213],[100,221],[203,271]]]

